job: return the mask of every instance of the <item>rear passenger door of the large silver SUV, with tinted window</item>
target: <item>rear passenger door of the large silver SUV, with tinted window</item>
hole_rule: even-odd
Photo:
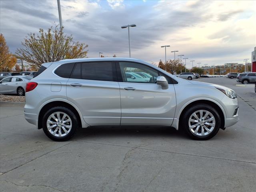
[[[76,63],[66,92],[87,124],[120,125],[120,88],[114,62]]]

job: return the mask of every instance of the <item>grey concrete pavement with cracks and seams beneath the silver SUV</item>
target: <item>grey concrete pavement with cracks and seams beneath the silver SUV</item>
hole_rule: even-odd
[[[240,102],[240,121],[207,141],[171,128],[102,127],[54,142],[26,122],[23,104],[1,103],[0,191],[255,191],[254,85],[198,80],[234,89]]]

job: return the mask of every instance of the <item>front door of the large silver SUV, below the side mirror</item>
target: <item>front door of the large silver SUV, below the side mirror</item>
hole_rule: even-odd
[[[121,96],[121,125],[162,125],[171,126],[175,109],[176,97],[173,84],[163,90],[156,84],[158,76],[164,76],[154,68],[135,62],[119,62]],[[129,78],[128,74],[146,73],[144,77]]]

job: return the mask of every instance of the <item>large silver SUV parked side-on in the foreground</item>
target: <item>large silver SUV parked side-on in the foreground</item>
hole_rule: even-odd
[[[148,74],[139,82],[128,74]],[[25,118],[56,141],[91,126],[168,126],[206,140],[238,122],[236,93],[132,58],[42,64],[26,86]]]

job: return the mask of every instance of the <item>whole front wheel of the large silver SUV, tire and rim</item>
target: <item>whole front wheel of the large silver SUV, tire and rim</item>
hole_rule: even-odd
[[[208,104],[196,104],[183,114],[181,129],[195,140],[208,140],[220,129],[220,115]]]

